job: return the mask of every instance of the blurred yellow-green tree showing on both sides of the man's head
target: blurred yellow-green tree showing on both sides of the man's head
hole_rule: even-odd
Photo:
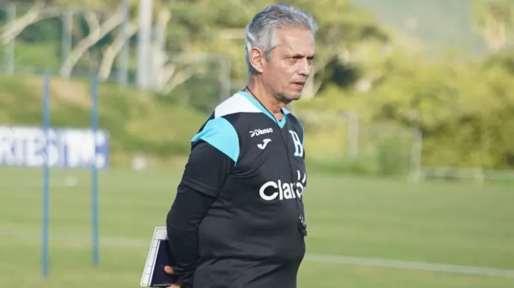
[[[247,75],[243,59],[244,27],[258,10],[276,2],[174,1],[171,5],[175,17],[170,22],[174,29],[170,30],[169,38],[176,41],[171,45],[181,51],[227,54],[231,58],[233,78],[242,80]],[[320,27],[313,73],[304,89],[304,98],[314,96],[324,82],[330,81],[333,76],[330,70],[334,65],[362,64],[369,56],[360,51],[381,49],[388,42],[386,31],[377,26],[369,14],[351,5],[349,0],[296,0],[289,3],[313,14]],[[372,82],[377,76],[371,73],[364,74],[363,78]]]

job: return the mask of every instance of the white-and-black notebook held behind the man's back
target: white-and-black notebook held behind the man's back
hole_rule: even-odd
[[[156,227],[150,243],[147,262],[141,277],[142,287],[167,287],[177,281],[176,277],[165,273],[165,266],[174,266],[169,249],[166,227]]]

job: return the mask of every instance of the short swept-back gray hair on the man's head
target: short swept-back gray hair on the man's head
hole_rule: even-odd
[[[316,21],[308,12],[286,3],[267,6],[258,12],[245,29],[244,46],[248,71],[254,68],[250,63],[252,48],[260,48],[270,60],[271,51],[276,47],[276,30],[283,27],[301,26],[308,28],[313,36],[317,31]]]

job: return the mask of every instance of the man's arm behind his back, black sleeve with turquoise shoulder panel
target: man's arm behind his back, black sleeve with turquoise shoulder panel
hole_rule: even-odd
[[[193,147],[166,224],[174,273],[191,285],[198,261],[198,229],[239,156],[238,135],[224,118],[208,121]]]

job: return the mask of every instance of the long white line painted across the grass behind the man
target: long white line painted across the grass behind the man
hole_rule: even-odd
[[[40,235],[35,235],[32,232],[1,229],[0,237],[10,237],[16,240],[22,240],[26,244],[38,244],[34,240],[39,240]],[[70,237],[69,235],[53,234],[50,240],[53,242],[60,242],[69,247],[88,249],[90,247],[89,236],[85,237]],[[25,240],[25,241],[23,241]],[[65,243],[63,243],[65,242]],[[19,243],[19,242],[18,242]],[[137,247],[147,249],[150,244],[149,240],[138,240],[131,238],[120,237],[100,237],[101,246],[117,246],[117,247]],[[324,264],[352,264],[368,267],[383,267],[395,268],[406,270],[420,270],[442,273],[461,273],[475,276],[495,276],[504,278],[514,278],[514,269],[497,269],[489,267],[472,267],[455,264],[444,263],[431,263],[431,262],[417,262],[406,260],[390,260],[383,258],[363,258],[363,257],[349,257],[342,255],[326,255],[317,253],[307,253],[305,260],[308,262],[317,262]]]

